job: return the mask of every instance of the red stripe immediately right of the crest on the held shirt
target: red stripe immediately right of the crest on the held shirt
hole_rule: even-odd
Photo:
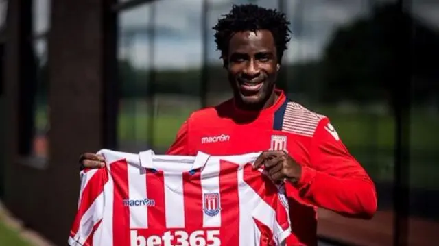
[[[222,245],[239,245],[238,165],[221,161],[219,171]],[[227,236],[225,236],[227,235]]]

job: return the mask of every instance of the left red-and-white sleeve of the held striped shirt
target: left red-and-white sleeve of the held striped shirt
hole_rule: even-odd
[[[108,172],[107,169],[84,169],[80,177],[78,211],[68,241],[71,246],[93,245],[93,234],[103,217],[104,185],[108,182]]]

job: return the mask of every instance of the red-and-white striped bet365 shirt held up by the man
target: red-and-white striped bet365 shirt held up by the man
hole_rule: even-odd
[[[81,171],[69,245],[285,245],[283,186],[239,156],[99,151],[106,168]]]

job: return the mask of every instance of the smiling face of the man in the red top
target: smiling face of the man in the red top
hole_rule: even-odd
[[[246,108],[260,108],[274,95],[279,65],[270,31],[234,34],[225,62],[237,103]]]

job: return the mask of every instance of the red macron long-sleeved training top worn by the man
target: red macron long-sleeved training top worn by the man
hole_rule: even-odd
[[[261,112],[241,111],[233,99],[193,112],[167,154],[287,151],[302,166],[297,187],[286,186],[293,233],[287,245],[317,245],[317,206],[369,219],[377,210],[375,185],[326,116],[276,93],[276,103]]]

